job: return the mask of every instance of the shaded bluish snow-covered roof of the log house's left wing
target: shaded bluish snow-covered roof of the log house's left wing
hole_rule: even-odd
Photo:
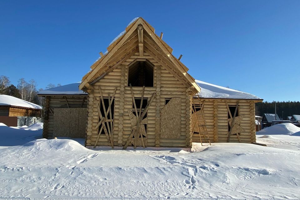
[[[56,94],[56,95],[87,95],[87,93],[79,90],[78,86],[81,82],[71,83],[68,85],[59,86],[56,88],[50,88],[47,90],[42,90],[38,93],[38,95],[46,95],[46,94]]]

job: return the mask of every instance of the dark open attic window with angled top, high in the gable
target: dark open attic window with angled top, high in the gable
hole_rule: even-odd
[[[154,65],[147,59],[136,59],[128,65],[128,86],[153,87]]]

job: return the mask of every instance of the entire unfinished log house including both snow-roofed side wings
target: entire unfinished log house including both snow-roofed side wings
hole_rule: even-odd
[[[202,142],[255,142],[254,103],[262,99],[196,82],[162,36],[143,18],[137,18],[113,40],[108,53],[100,52],[101,58],[83,77],[79,89],[86,93],[78,88],[72,90],[80,93],[76,95],[61,88],[39,93],[47,98],[44,137],[59,136],[73,126],[72,122],[63,128],[59,121],[61,116],[76,121],[67,112],[73,108],[68,103],[77,98],[73,106],[87,111],[87,115],[82,113],[82,121],[87,120],[85,144],[90,148],[191,148],[200,136]],[[199,109],[204,119],[198,118]],[[195,126],[206,129],[205,133],[195,133]]]

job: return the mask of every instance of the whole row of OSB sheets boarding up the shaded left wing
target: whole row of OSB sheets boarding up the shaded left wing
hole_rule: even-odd
[[[84,138],[87,120],[86,108],[54,109],[54,137]]]

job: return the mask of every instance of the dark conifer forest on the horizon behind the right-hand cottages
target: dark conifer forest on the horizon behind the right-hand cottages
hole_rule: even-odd
[[[300,102],[262,102],[255,104],[255,114],[261,116],[264,113],[275,113],[275,103],[276,111],[279,118],[282,118],[283,111],[283,120],[286,120],[288,116],[300,115]]]

